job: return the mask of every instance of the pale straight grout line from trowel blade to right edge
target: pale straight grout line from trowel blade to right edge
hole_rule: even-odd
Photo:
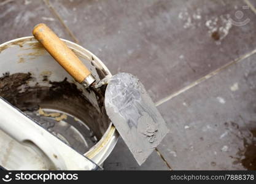
[[[160,101],[156,102],[155,105],[159,106],[167,101],[169,101],[170,99],[178,96],[181,93],[184,93],[185,91],[189,90],[190,88],[193,88],[194,86],[198,85],[201,82],[204,82],[204,80],[207,80],[209,78],[211,78],[212,76],[219,74],[219,72],[223,71],[224,69],[226,69],[227,67],[230,67],[233,64],[239,63],[240,61],[242,61],[243,59],[248,58],[251,55],[254,55],[256,53],[256,49],[253,50],[252,52],[249,52],[245,55],[242,55],[241,57],[231,61],[230,63],[225,64],[224,66],[220,67],[219,69],[216,69],[215,71],[212,71],[211,73],[209,73],[208,75],[202,77],[201,79],[196,80],[193,83],[190,83],[190,85],[185,86],[185,88],[182,88],[181,90],[177,91],[176,93],[173,93],[169,96],[167,96],[166,98],[160,99]]]

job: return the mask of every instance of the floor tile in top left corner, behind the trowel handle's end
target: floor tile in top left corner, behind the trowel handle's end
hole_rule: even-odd
[[[1,1],[0,23],[0,44],[19,37],[32,36],[32,29],[38,23],[46,23],[61,38],[72,40],[41,0]]]

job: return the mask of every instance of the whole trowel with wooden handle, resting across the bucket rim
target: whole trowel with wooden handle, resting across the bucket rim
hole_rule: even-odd
[[[95,81],[76,54],[45,24],[36,25],[33,35],[85,88],[107,85],[104,101],[107,115],[138,164],[144,163],[169,130],[142,83],[127,73]]]

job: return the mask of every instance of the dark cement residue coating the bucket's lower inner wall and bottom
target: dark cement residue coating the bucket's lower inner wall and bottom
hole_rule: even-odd
[[[48,81],[47,76],[44,76],[44,82],[48,83],[48,86],[40,86],[38,83],[34,86],[28,85],[29,81],[36,82],[36,80],[29,73],[12,75],[6,73],[0,78],[0,96],[36,120],[44,128],[52,133],[57,132],[60,139],[77,151],[82,153],[88,151],[101,139],[110,123],[104,107],[104,87],[89,91],[95,93],[98,98],[100,109],[98,110],[74,83],[70,83],[66,79],[61,82],[51,82]],[[39,108],[53,109],[56,110],[56,113],[48,117],[47,115],[41,116]],[[58,111],[63,113],[57,116]],[[73,118],[69,115],[72,115]],[[71,127],[70,124],[72,124],[72,131],[67,134],[73,134],[73,132],[74,134],[69,137],[61,134],[60,129],[68,129]],[[88,128],[86,129],[86,127]],[[77,131],[79,132],[76,134]],[[81,146],[82,139],[86,140],[87,147]],[[79,142],[81,144],[78,144]]]

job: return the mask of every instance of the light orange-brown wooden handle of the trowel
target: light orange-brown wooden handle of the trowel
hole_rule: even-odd
[[[91,74],[75,53],[47,25],[36,25],[33,35],[77,82],[82,83]]]

